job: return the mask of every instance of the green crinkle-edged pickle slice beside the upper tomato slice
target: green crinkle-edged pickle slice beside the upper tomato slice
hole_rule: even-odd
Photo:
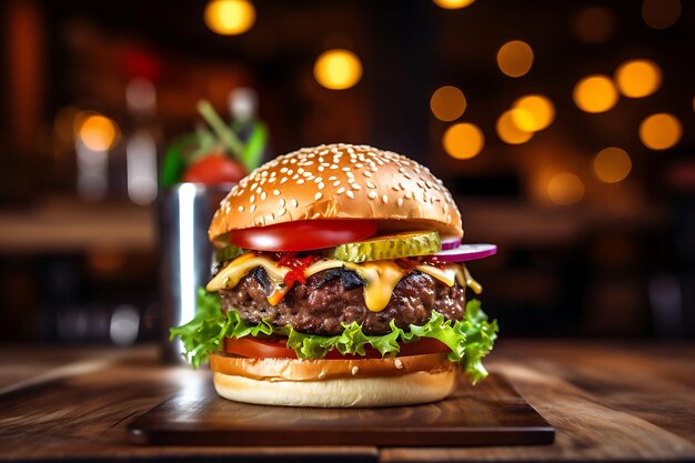
[[[440,234],[435,231],[422,231],[386,234],[365,241],[341,244],[329,250],[326,256],[360,263],[429,255],[441,250]]]

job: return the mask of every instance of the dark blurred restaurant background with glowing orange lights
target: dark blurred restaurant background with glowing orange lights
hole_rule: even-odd
[[[0,3],[0,340],[163,330],[171,140],[252,89],[264,160],[369,143],[461,208],[504,336],[695,335],[695,3]],[[164,284],[167,284],[164,282]]]

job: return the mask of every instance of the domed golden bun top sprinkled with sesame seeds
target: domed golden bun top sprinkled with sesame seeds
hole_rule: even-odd
[[[367,145],[302,148],[255,169],[212,218],[211,241],[231,230],[300,220],[373,219],[380,229],[462,236],[461,214],[442,181],[417,162]]]

